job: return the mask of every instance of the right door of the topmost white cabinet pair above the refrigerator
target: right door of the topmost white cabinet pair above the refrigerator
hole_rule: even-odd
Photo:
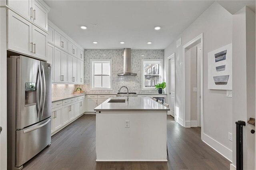
[[[38,0],[32,0],[33,22],[47,31],[48,12],[38,3]]]

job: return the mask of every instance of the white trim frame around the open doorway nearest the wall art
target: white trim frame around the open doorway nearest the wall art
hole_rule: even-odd
[[[201,138],[202,134],[204,133],[204,74],[203,74],[203,63],[204,63],[204,34],[201,33],[196,38],[192,39],[190,42],[186,43],[182,48],[182,54],[183,54],[183,126],[184,127],[191,127],[191,125],[186,126],[185,124],[185,51],[186,49],[190,49],[194,45],[201,43],[201,55],[200,55],[200,115],[201,115]]]

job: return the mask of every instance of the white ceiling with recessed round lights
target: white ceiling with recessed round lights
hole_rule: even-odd
[[[51,8],[48,19],[85,49],[165,49],[214,1],[45,2]],[[82,30],[82,25],[87,29]],[[162,28],[156,31],[155,26]]]

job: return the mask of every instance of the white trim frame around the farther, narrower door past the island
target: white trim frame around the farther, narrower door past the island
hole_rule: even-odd
[[[171,71],[171,63],[170,63],[170,61],[171,61],[171,59],[172,58],[174,58],[174,83],[175,83],[175,85],[174,85],[174,91],[175,91],[175,93],[174,93],[174,120],[175,121],[178,121],[177,119],[176,119],[176,71],[175,71],[175,53],[173,53],[173,54],[171,54],[169,57],[167,57],[167,59],[168,59],[168,84],[169,84],[169,86],[168,86],[168,95],[171,95],[171,88],[170,88],[170,85],[171,85],[171,79],[170,79],[170,71]],[[168,96],[167,95],[167,96]],[[170,96],[168,97],[168,101],[170,101]],[[171,101],[169,102],[169,104],[171,105]]]

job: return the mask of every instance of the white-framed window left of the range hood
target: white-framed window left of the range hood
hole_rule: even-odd
[[[93,90],[112,90],[112,59],[91,59],[90,83]]]

